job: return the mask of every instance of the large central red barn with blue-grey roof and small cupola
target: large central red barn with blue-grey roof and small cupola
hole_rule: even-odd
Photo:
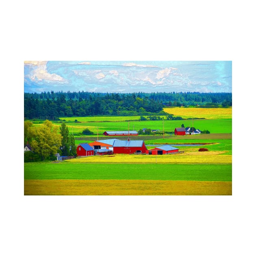
[[[115,141],[114,154],[145,153],[147,148],[144,141]]]

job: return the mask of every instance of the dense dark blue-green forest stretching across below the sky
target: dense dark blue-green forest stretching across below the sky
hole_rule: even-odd
[[[163,114],[165,106],[232,106],[232,93],[24,93],[24,117],[49,119],[90,115]]]

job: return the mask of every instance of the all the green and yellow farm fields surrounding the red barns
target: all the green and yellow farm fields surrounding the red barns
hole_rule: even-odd
[[[164,137],[132,137],[144,140],[146,145],[175,144],[182,153],[174,155],[115,154],[80,157],[60,163],[24,163],[24,194],[232,195],[232,108],[195,108],[193,113],[189,112],[191,108],[167,109],[183,118],[207,118],[195,119],[193,125],[200,130],[209,130],[210,134],[174,136],[166,133]],[[174,113],[174,110],[178,112]],[[81,123],[74,122],[75,119]],[[76,135],[76,144],[97,138],[109,139],[102,133],[105,130],[128,130],[128,120],[137,120],[129,122],[130,130],[163,130],[162,120],[139,121],[139,117],[66,117],[65,120],[69,132]],[[192,126],[192,120],[165,120],[165,132],[172,132],[181,124]],[[54,122],[54,125],[61,123]],[[85,128],[94,134],[79,135]],[[186,143],[208,144],[178,145]],[[148,146],[150,148],[154,147]],[[199,148],[209,151],[198,152]]]

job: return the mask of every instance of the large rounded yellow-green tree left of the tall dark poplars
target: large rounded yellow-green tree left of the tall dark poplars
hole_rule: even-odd
[[[57,153],[61,145],[62,136],[58,132],[57,126],[46,120],[41,126],[31,126],[28,132],[32,136],[31,148],[38,153],[43,160],[49,159],[51,155]]]

